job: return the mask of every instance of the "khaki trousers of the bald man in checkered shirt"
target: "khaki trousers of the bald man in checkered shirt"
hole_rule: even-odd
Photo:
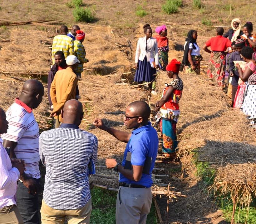
[[[89,224],[91,217],[91,199],[88,203],[78,209],[57,210],[50,208],[44,200],[41,207],[42,224],[63,224],[67,218],[68,224]]]

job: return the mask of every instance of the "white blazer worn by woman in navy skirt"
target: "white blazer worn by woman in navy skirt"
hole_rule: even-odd
[[[147,40],[147,51],[146,51],[146,36],[140,37],[138,40],[136,54],[135,54],[135,63],[138,63],[139,60],[143,61],[145,56],[147,57],[147,61],[150,61],[150,58],[155,58],[155,64],[159,64],[158,58],[158,47],[156,39],[151,37]]]

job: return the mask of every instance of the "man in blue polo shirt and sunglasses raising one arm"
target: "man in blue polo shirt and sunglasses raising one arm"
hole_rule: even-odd
[[[120,172],[119,191],[116,200],[116,224],[145,224],[152,202],[152,170],[158,150],[158,136],[148,122],[150,107],[144,101],[135,101],[125,111],[126,128],[131,133],[108,128],[101,119],[93,124],[115,138],[126,142],[122,163],[106,159],[107,168]]]

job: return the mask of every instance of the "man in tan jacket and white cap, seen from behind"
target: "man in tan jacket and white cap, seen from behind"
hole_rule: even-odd
[[[67,68],[57,71],[51,84],[50,96],[53,110],[50,116],[54,117],[54,128],[58,128],[62,122],[61,110],[66,101],[76,98],[77,77],[74,73],[80,61],[75,55],[66,58]]]

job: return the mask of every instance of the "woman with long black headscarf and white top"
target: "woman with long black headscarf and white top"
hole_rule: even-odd
[[[190,30],[184,45],[182,64],[188,72],[194,71],[196,74],[200,74],[200,61],[202,60],[202,56],[200,55],[200,48],[196,43],[196,39],[197,31]]]

